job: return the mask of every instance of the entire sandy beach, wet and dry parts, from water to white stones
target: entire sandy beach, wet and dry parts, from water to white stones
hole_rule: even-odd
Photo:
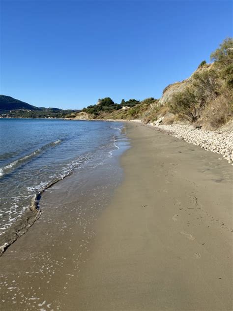
[[[1,310],[233,310],[232,166],[152,128],[126,126],[132,148],[121,156],[120,186],[110,185],[111,167],[90,172],[94,191],[74,195],[88,179],[71,177],[72,188],[64,180],[0,257]],[[103,206],[92,211],[95,203]],[[56,218],[46,218],[49,208]]]

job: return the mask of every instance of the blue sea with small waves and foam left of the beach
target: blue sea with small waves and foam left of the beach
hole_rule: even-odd
[[[104,165],[127,145],[122,129],[117,122],[0,119],[0,235],[48,184]]]

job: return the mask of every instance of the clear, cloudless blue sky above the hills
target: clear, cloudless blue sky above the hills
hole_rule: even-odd
[[[79,109],[159,98],[227,36],[230,0],[1,0],[0,93]]]

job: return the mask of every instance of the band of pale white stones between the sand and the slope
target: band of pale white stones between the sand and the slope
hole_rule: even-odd
[[[152,124],[151,124],[152,125]],[[228,163],[233,163],[233,131],[231,128],[207,131],[192,125],[152,125],[157,130],[220,154]],[[233,164],[232,164],[233,165]]]

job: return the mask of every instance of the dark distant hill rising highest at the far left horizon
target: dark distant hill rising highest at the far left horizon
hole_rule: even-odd
[[[0,111],[9,111],[15,109],[38,110],[39,108],[29,105],[27,102],[15,99],[10,96],[0,95]]]

